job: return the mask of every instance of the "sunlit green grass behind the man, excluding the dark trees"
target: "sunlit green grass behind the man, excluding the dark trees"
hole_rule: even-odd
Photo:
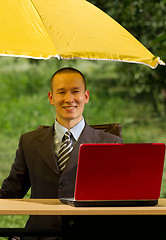
[[[39,125],[53,124],[55,111],[47,97],[49,77],[64,65],[69,64],[48,60],[34,65],[27,59],[0,58],[0,183],[9,174],[19,136]],[[124,142],[166,142],[165,117],[154,114],[150,100],[131,98],[128,88],[115,84],[115,65],[73,61],[70,66],[84,71],[87,77],[90,102],[84,117],[89,124],[121,123]],[[166,167],[161,197],[166,197]],[[0,227],[24,227],[27,218],[0,216]]]

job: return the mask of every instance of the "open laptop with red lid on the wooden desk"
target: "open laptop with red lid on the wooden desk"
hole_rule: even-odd
[[[82,144],[72,206],[156,205],[165,158],[163,143]]]

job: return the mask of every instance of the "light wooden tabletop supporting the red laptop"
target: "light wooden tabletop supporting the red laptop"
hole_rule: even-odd
[[[0,199],[0,215],[166,215],[166,199],[154,207],[71,207],[57,199]]]

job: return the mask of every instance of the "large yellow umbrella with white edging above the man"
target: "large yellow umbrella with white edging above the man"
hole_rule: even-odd
[[[0,55],[163,64],[85,0],[1,0]]]

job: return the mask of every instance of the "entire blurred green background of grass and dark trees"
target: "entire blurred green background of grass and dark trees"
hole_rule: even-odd
[[[165,59],[166,1],[90,1],[110,14],[154,55]],[[89,124],[121,123],[124,142],[166,142],[166,68],[106,61],[0,57],[0,183],[9,174],[21,134],[52,125],[50,77],[61,67],[83,72],[90,90]],[[29,197],[29,194],[26,196]],[[166,170],[161,189],[166,197]],[[27,216],[0,216],[0,227],[24,227]],[[1,238],[0,238],[1,239]]]

